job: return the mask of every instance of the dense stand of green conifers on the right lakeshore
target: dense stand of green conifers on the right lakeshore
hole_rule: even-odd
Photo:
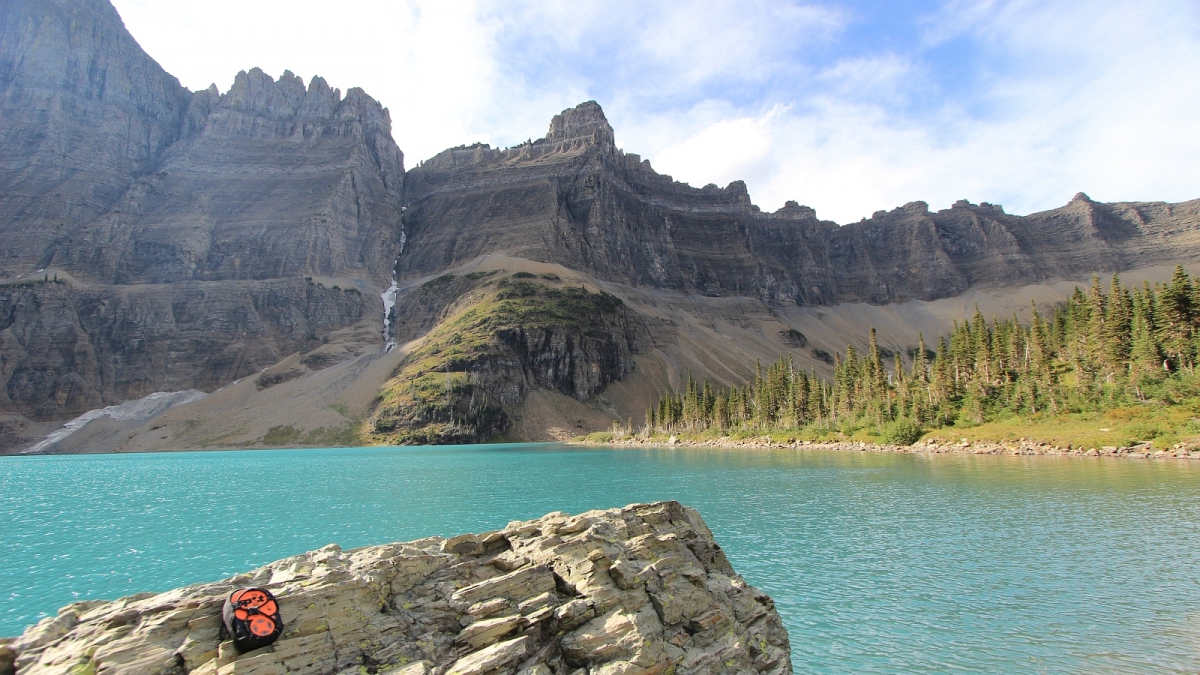
[[[932,363],[918,334],[907,372],[900,354],[892,370],[883,366],[878,335],[871,330],[865,353],[847,345],[845,358],[835,356],[832,381],[797,370],[784,356],[766,368],[757,362],[750,382],[724,392],[710,378],[701,384],[689,374],[680,392],[665,393],[647,411],[647,429],[774,432],[848,423],[882,430],[900,417],[937,426],[954,419],[984,422],[994,412],[1058,414],[1064,404],[1092,410],[1127,405],[1159,395],[1147,393],[1150,383],[1194,376],[1198,295],[1200,286],[1182,269],[1168,285],[1132,291],[1114,275],[1106,292],[1098,279],[1087,293],[1076,288],[1049,322],[1032,303],[1028,325],[1016,316],[989,323],[977,307],[938,339]],[[1060,380],[1060,374],[1067,377]],[[1103,386],[1097,374],[1103,374]]]

